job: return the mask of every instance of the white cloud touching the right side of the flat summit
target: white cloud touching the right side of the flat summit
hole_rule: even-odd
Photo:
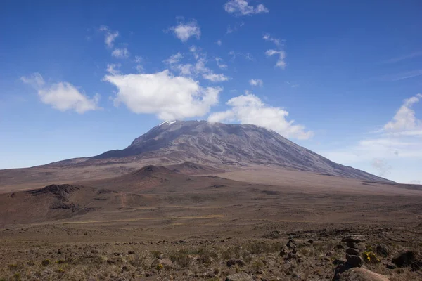
[[[286,138],[308,139],[313,136],[312,131],[305,131],[305,126],[293,124],[293,120],[286,120],[286,110],[266,105],[251,93],[246,92],[245,95],[231,98],[226,104],[231,106],[231,109],[212,113],[208,121],[255,124],[272,129]]]

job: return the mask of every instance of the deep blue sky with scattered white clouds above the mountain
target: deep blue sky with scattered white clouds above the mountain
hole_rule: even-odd
[[[6,1],[0,169],[124,148],[165,119],[209,119],[265,126],[335,162],[419,183],[421,10]]]

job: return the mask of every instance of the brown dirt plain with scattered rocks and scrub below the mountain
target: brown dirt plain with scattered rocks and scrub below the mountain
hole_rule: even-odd
[[[333,280],[349,235],[362,240],[364,268],[422,280],[422,191],[309,174],[224,176],[247,182],[154,186],[138,207],[129,191],[112,193],[102,209],[37,223],[6,220],[11,203],[1,213],[0,280]],[[414,262],[392,263],[407,250]]]

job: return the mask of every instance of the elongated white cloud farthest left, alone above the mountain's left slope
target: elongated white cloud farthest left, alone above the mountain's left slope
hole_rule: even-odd
[[[81,93],[75,86],[68,82],[59,82],[46,85],[41,74],[34,73],[31,77],[21,77],[21,81],[30,84],[37,90],[42,103],[51,105],[51,107],[60,111],[75,110],[82,114],[89,110],[98,110],[98,93],[94,98]]]

